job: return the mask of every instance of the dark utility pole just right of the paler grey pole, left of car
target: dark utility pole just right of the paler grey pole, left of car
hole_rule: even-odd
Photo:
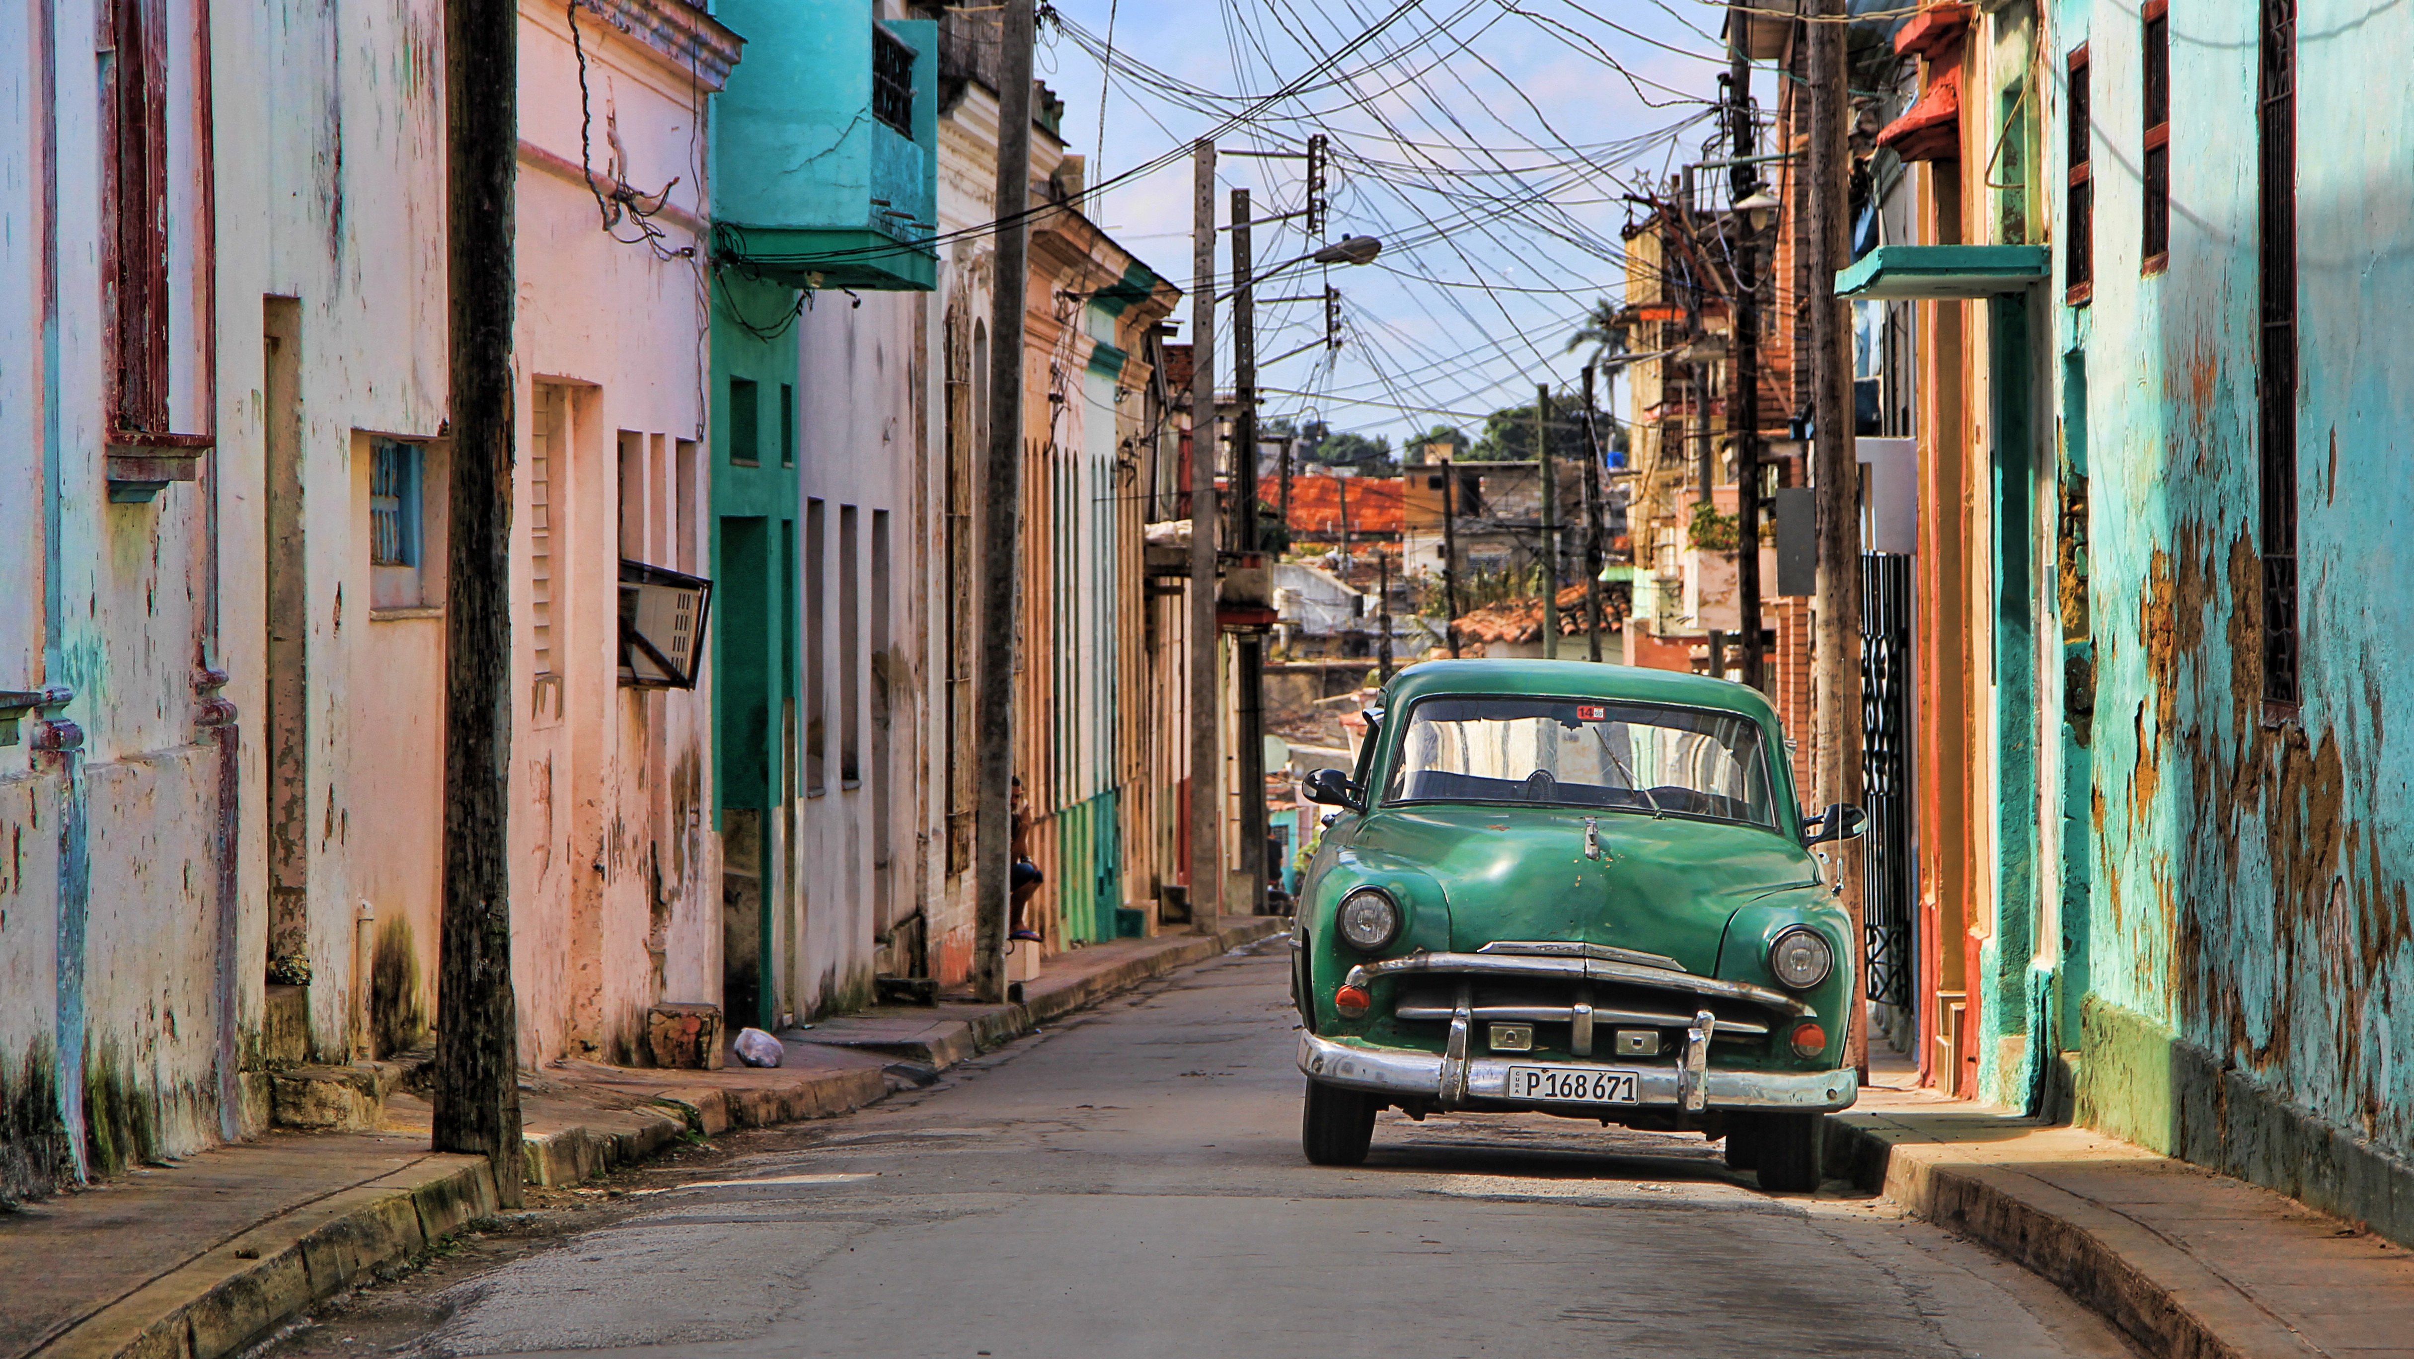
[[[1248,191],[1231,191],[1231,490],[1234,553],[1258,550],[1258,268],[1248,244]],[[1248,912],[1265,908],[1265,640],[1255,625],[1231,635],[1234,770],[1241,785],[1241,876]]]

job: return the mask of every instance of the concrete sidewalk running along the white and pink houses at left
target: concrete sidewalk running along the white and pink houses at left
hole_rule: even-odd
[[[1118,939],[1053,958],[1021,1004],[886,1007],[782,1033],[780,1067],[560,1062],[521,1077],[529,1183],[575,1185],[695,1132],[823,1118],[1123,987],[1284,929]],[[427,1151],[427,1101],[377,1132],[273,1132],[0,1214],[0,1357],[232,1354],[314,1301],[497,1209],[488,1163]]]

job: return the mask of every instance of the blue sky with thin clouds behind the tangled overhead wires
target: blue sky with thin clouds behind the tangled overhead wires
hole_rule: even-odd
[[[1065,99],[1069,150],[1091,157],[1089,183],[1106,183],[1091,217],[1185,292],[1190,142],[1234,113],[1250,118],[1217,138],[1226,152],[1296,152],[1311,133],[1330,138],[1325,239],[1306,239],[1296,220],[1258,227],[1258,268],[1342,234],[1386,246],[1371,266],[1304,266],[1258,287],[1260,297],[1337,287],[1345,340],[1267,364],[1318,340],[1325,309],[1260,304],[1263,415],[1388,434],[1395,447],[1439,422],[1473,434],[1485,413],[1530,403],[1538,381],[1579,381],[1586,355],[1567,345],[1596,299],[1620,294],[1617,232],[1637,210],[1625,196],[1704,159],[1726,72],[1724,7],[1704,0],[1055,0],[1055,10],[1067,22],[1043,24],[1036,65]],[[1767,68],[1755,72],[1762,109],[1774,106],[1769,80]],[[1287,94],[1265,101],[1277,92]],[[1159,159],[1171,164],[1132,176]],[[1224,154],[1217,179],[1219,224],[1231,188],[1253,193],[1260,220],[1304,203],[1301,159]],[[1229,270],[1221,246],[1219,270]],[[1188,297],[1176,319],[1188,340]],[[1224,309],[1217,348],[1217,386],[1229,386]]]

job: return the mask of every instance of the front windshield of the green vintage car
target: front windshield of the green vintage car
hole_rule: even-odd
[[[1419,700],[1383,801],[1533,801],[1777,823],[1750,717],[1581,698]]]

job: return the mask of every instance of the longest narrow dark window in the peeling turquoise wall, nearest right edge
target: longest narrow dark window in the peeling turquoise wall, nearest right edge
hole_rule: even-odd
[[[2260,188],[2257,292],[2262,369],[2257,454],[2262,490],[2262,584],[2267,705],[2296,707],[2296,0],[2262,0],[2255,142]]]

